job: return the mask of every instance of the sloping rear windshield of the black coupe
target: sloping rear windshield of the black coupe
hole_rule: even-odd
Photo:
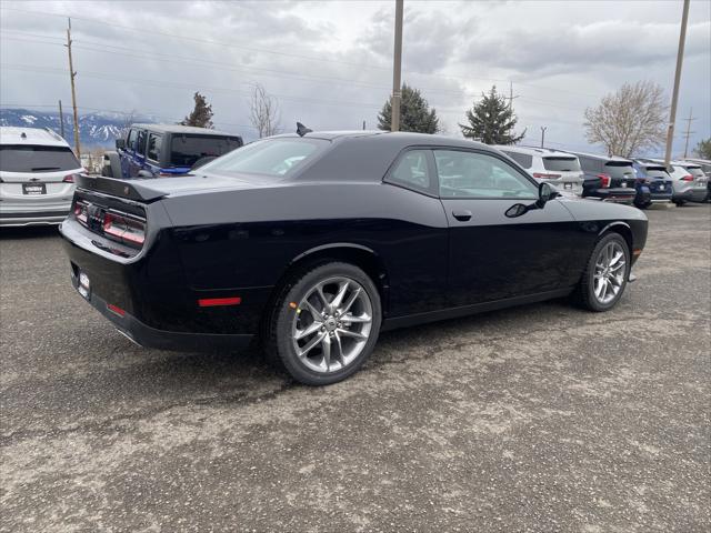
[[[272,177],[287,175],[303,164],[329,142],[322,139],[269,139],[247,144],[208,163],[200,171],[244,172]]]

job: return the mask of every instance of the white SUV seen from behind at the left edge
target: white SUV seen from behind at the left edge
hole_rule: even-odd
[[[52,130],[0,127],[0,225],[59,224],[83,171]]]

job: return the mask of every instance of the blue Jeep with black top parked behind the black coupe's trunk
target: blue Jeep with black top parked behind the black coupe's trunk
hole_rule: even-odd
[[[104,154],[102,175],[158,178],[186,174],[243,144],[242,138],[207,128],[133,124]]]

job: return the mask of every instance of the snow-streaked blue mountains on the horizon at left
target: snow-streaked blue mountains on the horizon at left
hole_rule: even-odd
[[[64,139],[74,144],[74,120],[71,113],[62,113],[64,118]],[[79,142],[82,149],[109,148],[128,125],[124,114],[96,112],[79,115]],[[132,117],[130,122],[156,122],[149,117]],[[27,128],[50,128],[61,134],[61,121],[58,111],[36,111],[31,109],[0,108],[0,125]]]

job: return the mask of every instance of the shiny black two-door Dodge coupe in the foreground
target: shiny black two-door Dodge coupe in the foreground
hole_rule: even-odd
[[[259,339],[296,380],[328,384],[383,330],[568,295],[607,311],[647,218],[559,198],[470,141],[301,132],[188,177],[81,177],[61,234],[77,290],[134,342]]]

